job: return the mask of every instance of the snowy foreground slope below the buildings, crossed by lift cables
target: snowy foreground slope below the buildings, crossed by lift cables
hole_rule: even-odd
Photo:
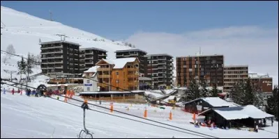
[[[70,102],[81,105],[77,101],[70,100]],[[101,106],[110,108],[109,104],[103,102]],[[89,107],[110,113],[110,111],[96,108],[96,106],[89,105]],[[164,114],[163,109],[144,104],[130,106],[130,104],[114,103],[114,109],[138,116],[143,116],[144,107],[147,107],[147,118],[151,120],[219,138],[278,138],[278,122],[274,122],[273,127],[266,127],[268,131],[259,130],[259,133],[235,129],[209,130],[207,127],[195,128],[193,124],[189,123],[192,115],[179,109],[172,112],[173,120],[169,121],[167,120],[169,107],[166,107]],[[127,108],[129,108],[129,111],[127,111]],[[113,115],[130,117],[116,112]],[[10,92],[3,95],[3,92],[1,92],[1,138],[77,138],[77,134],[83,128],[82,117],[82,108],[61,101],[44,97],[11,95]],[[136,117],[130,118],[145,121]],[[267,124],[270,124],[269,121]],[[173,136],[175,138],[202,138],[94,111],[86,111],[86,127],[89,131],[95,133],[93,138],[172,138]],[[178,130],[182,131],[181,129]]]

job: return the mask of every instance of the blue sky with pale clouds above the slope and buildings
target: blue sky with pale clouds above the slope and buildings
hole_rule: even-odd
[[[278,1],[1,1],[150,54],[223,54],[278,84]]]

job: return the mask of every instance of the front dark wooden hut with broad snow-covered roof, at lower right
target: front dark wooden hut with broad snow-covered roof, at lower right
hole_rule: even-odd
[[[213,121],[220,128],[246,126],[254,129],[256,126],[264,126],[264,119],[274,117],[252,105],[210,108],[199,115],[204,115],[205,120]]]

